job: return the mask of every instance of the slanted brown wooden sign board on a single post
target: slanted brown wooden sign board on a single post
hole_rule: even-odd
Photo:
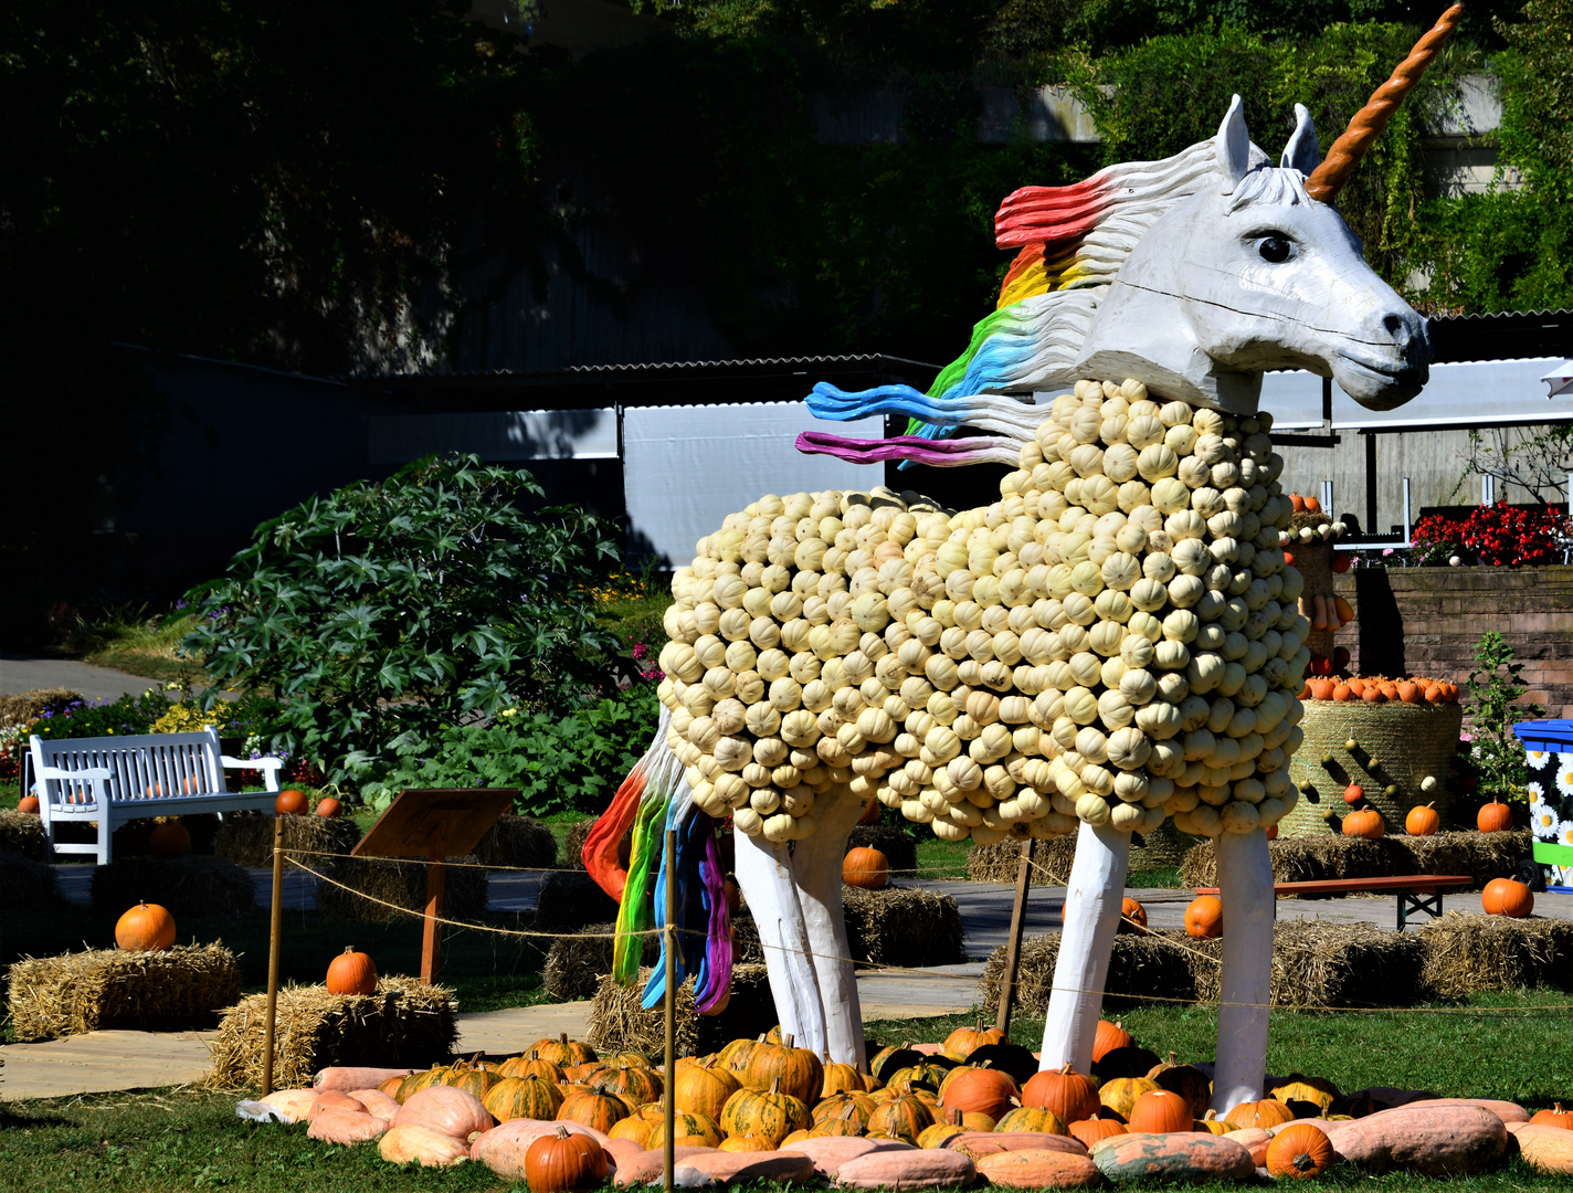
[[[426,913],[420,946],[420,981],[431,985],[440,965],[442,891],[448,858],[473,851],[497,817],[513,807],[516,787],[412,789],[400,792],[392,807],[360,839],[355,858],[425,858]]]

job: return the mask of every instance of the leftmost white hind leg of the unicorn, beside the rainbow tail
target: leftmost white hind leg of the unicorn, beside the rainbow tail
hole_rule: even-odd
[[[782,1032],[818,1053],[824,1048],[824,1012],[788,847],[733,833],[733,848],[738,886],[760,930]]]

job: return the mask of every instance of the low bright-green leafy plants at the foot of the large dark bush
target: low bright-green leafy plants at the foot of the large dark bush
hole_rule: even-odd
[[[396,743],[392,770],[362,793],[381,811],[404,787],[518,787],[522,815],[599,812],[650,746],[659,711],[653,683],[568,716],[505,708],[484,726]]]

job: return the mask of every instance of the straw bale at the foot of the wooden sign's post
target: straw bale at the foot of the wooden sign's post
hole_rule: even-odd
[[[310,1086],[327,1066],[425,1069],[453,1053],[458,1039],[453,992],[415,977],[382,977],[370,995],[330,995],[321,985],[278,992],[274,1088]],[[208,1045],[206,1083],[255,1089],[263,1083],[267,995],[231,1006]]]

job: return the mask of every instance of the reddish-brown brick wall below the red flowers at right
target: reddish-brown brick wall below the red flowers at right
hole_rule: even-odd
[[[1573,718],[1573,567],[1357,568],[1335,590],[1354,606],[1337,644],[1357,672],[1463,685],[1475,642],[1496,630],[1524,664],[1524,699]]]

